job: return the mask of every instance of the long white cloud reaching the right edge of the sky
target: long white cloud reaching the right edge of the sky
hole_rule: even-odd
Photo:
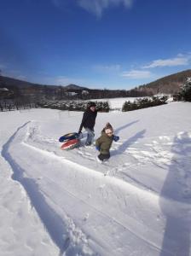
[[[189,64],[189,60],[190,56],[178,55],[172,59],[152,61],[149,65],[143,66],[142,68],[186,66]]]

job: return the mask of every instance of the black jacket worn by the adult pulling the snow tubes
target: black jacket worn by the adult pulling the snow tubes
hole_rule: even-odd
[[[96,123],[96,116],[97,116],[97,110],[91,111],[90,108],[85,110],[83,114],[82,123],[79,126],[79,132],[82,131],[82,128],[89,128],[90,130],[94,131],[94,126]]]

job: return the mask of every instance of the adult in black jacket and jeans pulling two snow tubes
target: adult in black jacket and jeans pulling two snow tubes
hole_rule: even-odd
[[[93,142],[93,138],[95,137],[94,126],[96,124],[96,116],[97,116],[96,103],[89,102],[87,104],[86,110],[84,111],[82,122],[78,130],[78,133],[80,134],[84,127],[85,131],[88,132],[88,136],[85,143],[86,146],[90,146],[91,143]]]

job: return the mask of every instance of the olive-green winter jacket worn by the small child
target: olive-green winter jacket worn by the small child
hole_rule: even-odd
[[[101,137],[96,139],[96,147],[100,148],[101,154],[109,154],[109,149],[113,143],[113,137],[108,137],[105,131],[101,131]]]

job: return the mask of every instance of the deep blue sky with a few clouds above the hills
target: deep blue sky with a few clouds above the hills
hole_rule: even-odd
[[[190,0],[0,0],[0,69],[125,89],[191,68]]]

